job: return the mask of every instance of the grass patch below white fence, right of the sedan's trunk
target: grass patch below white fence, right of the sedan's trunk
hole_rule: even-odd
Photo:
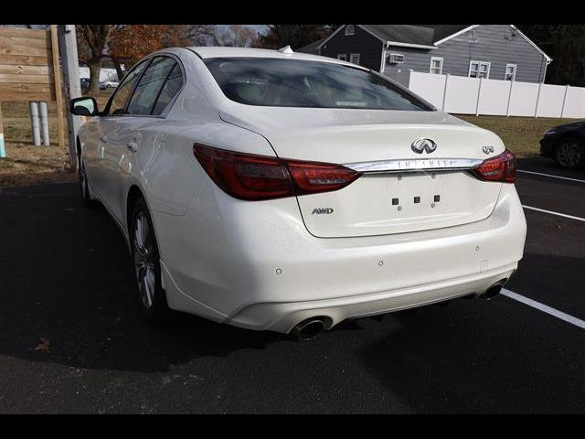
[[[464,121],[493,131],[502,138],[504,145],[518,157],[538,155],[540,151],[538,142],[548,128],[578,121],[578,119],[544,117],[455,115]]]

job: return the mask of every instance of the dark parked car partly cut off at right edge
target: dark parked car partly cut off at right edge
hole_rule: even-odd
[[[540,141],[540,155],[563,169],[585,166],[585,121],[550,128]]]

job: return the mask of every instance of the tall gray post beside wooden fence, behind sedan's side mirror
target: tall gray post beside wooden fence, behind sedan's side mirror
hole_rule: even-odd
[[[77,54],[77,38],[75,25],[58,25],[58,47],[61,54],[62,68],[65,77],[66,107],[69,100],[81,96],[80,60]],[[69,131],[69,167],[71,172],[77,169],[77,134],[80,131],[80,116],[67,112]]]

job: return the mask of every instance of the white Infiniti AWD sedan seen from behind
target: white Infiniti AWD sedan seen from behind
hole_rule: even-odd
[[[135,264],[169,309],[311,338],[463,296],[516,271],[526,219],[500,138],[354,64],[284,50],[142,59],[78,139]]]

